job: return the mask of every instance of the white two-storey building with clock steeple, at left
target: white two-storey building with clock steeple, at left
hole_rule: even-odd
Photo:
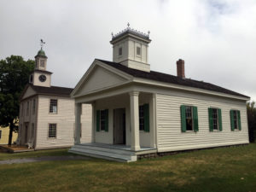
[[[20,96],[18,143],[35,149],[70,147],[74,143],[74,100],[70,97],[73,89],[51,85],[52,73],[46,70],[47,56],[42,48],[35,60],[35,70]],[[82,111],[79,137],[88,143],[90,105],[83,105]]]

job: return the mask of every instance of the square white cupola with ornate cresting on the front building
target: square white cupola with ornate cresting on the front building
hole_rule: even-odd
[[[150,72],[148,64],[148,44],[151,42],[148,33],[139,32],[128,23],[125,30],[113,35],[110,44],[113,44],[113,62]]]

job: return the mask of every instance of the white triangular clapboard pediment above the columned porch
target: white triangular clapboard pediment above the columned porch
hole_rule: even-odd
[[[125,83],[127,80],[116,72],[96,65],[84,79],[84,82],[79,85],[73,96],[83,96],[91,92],[108,89]]]

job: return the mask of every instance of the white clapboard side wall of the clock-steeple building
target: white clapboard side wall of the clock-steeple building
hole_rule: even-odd
[[[56,114],[49,113],[49,100],[58,100]],[[74,143],[74,100],[68,97],[39,96],[37,148],[72,146]],[[91,141],[91,107],[83,105],[81,142]],[[57,124],[56,138],[48,138],[49,124]]]

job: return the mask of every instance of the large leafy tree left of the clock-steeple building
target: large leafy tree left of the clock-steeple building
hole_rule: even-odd
[[[9,126],[9,145],[18,131],[20,94],[34,69],[34,61],[11,55],[0,61],[0,126]]]

